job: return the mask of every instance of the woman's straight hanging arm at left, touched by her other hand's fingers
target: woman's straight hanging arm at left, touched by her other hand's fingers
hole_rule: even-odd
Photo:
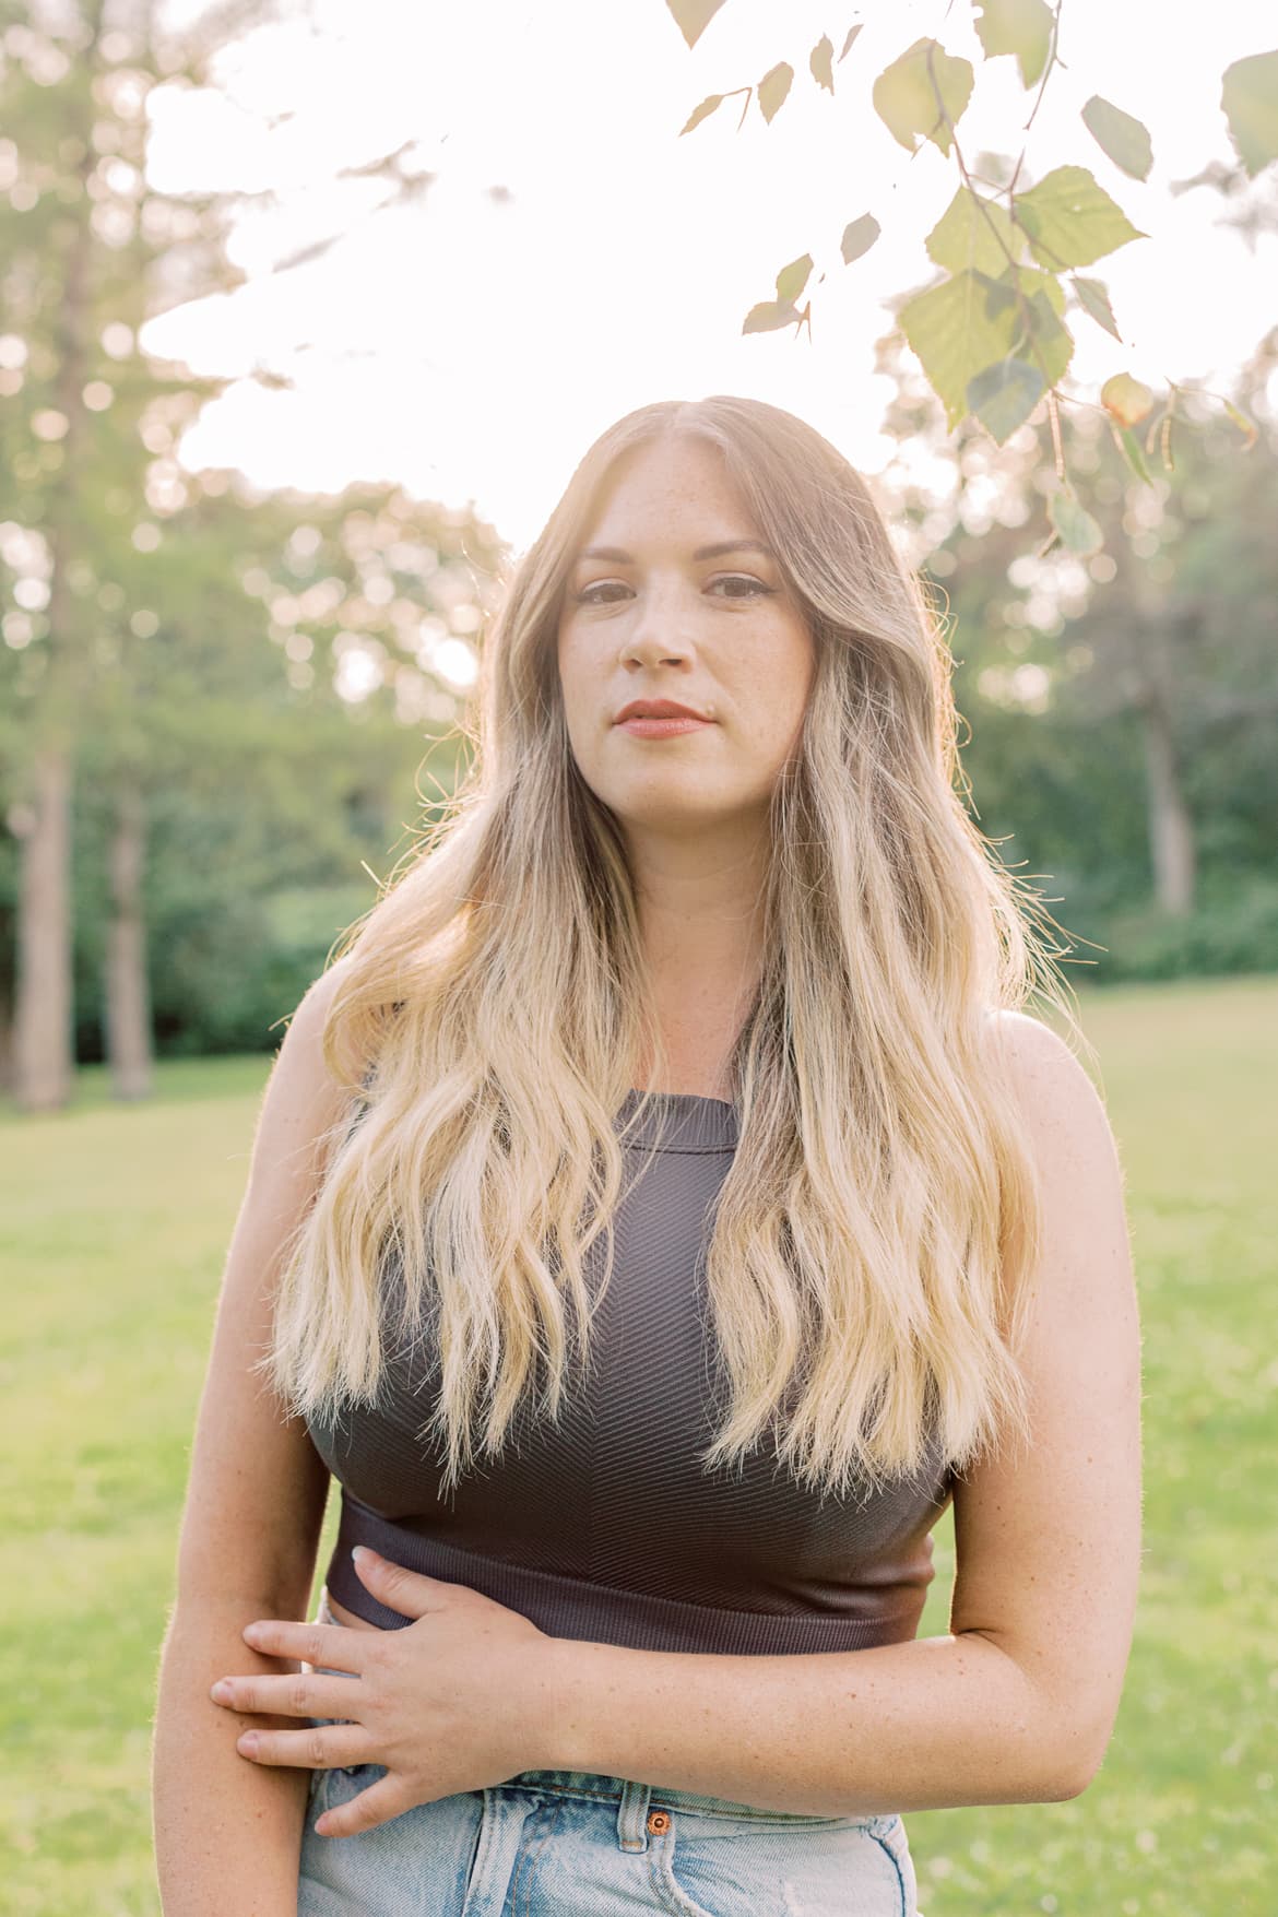
[[[236,1750],[251,1725],[295,1731],[297,1718],[232,1712],[209,1689],[232,1674],[301,1670],[251,1651],[241,1631],[253,1618],[305,1618],[328,1470],[251,1365],[266,1346],[285,1236],[316,1192],[316,1141],[345,1104],[320,1051],[341,970],[310,985],[276,1056],[217,1307],[151,1743],[165,1917],[297,1917],[310,1773]]]

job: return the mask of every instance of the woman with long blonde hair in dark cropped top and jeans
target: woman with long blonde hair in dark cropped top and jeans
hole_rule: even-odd
[[[169,1917],[910,1917],[902,1812],[1096,1775],[1123,1177],[1023,1010],[1069,1016],[948,663],[791,414],[651,404],[579,466],[452,817],[266,1091],[161,1668]]]

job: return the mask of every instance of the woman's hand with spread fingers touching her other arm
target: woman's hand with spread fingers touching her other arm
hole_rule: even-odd
[[[349,1718],[297,1731],[245,1731],[255,1764],[331,1769],[383,1764],[385,1777],[326,1812],[320,1836],[372,1831],[414,1804],[481,1790],[517,1771],[554,1767],[554,1672],[548,1637],[529,1618],[466,1583],[445,1583],[360,1549],[354,1568],[374,1597],[414,1622],[356,1631],[339,1624],[257,1620],[243,1637],[270,1656],[330,1664],[316,1672],[224,1677],[213,1702],[285,1718]]]

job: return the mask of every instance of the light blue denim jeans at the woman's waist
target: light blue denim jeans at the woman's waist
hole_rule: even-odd
[[[328,1591],[316,1624],[337,1624]],[[598,1771],[517,1771],[354,1836],[316,1835],[383,1775],[310,1773],[297,1917],[922,1917],[899,1815],[803,1817]]]

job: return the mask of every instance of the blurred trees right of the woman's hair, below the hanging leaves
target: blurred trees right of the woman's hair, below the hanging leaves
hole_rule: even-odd
[[[968,801],[1060,901],[1071,976],[1278,968],[1278,328],[1232,389],[1255,443],[1203,404],[1175,491],[1130,472],[1100,408],[1061,418],[1106,521],[1090,556],[1027,548],[1058,483],[1033,427],[948,437],[895,334],[879,370],[899,443],[879,497],[954,654]]]

